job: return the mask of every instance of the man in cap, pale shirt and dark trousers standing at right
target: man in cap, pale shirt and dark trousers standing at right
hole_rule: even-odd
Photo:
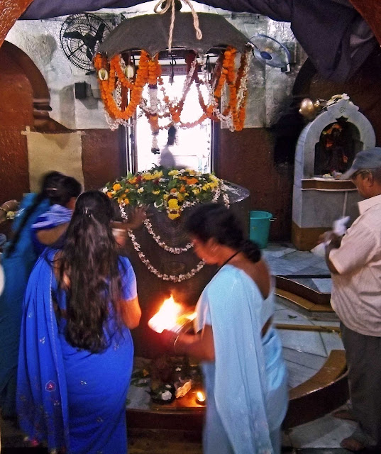
[[[341,446],[381,452],[381,148],[361,151],[342,179],[365,200],[343,238],[328,233],[331,304],[341,319],[353,414],[358,429]],[[326,238],[328,238],[326,236]]]

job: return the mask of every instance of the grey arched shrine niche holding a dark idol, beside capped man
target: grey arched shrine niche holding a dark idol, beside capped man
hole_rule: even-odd
[[[311,250],[340,216],[358,216],[360,195],[340,176],[356,153],[374,146],[370,121],[346,94],[333,96],[305,126],[295,150],[292,199],[292,243],[299,250]]]

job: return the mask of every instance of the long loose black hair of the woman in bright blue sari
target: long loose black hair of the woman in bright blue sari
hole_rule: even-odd
[[[104,327],[110,311],[120,323],[121,277],[112,216],[105,194],[81,194],[60,255],[60,288],[67,292],[65,336],[70,345],[92,353],[107,347]]]

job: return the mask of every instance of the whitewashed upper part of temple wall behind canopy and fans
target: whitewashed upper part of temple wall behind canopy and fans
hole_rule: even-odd
[[[211,7],[197,5],[199,11],[213,12]],[[149,9],[148,9],[149,8]],[[145,4],[126,10],[126,17],[141,13],[152,13],[153,9]],[[263,33],[287,43],[297,52],[288,23],[271,21],[265,16],[248,13],[231,14],[223,11],[223,16],[233,23],[248,38],[255,33]],[[119,11],[120,13],[120,11]],[[103,13],[102,18],[110,23],[113,13]],[[112,19],[111,19],[112,18]],[[116,19],[117,20],[117,19]],[[41,21],[17,21],[6,36],[6,40],[26,52],[45,78],[50,90],[50,113],[58,123],[70,129],[108,128],[104,109],[99,99],[98,83],[94,74],[86,75],[72,65],[60,45],[60,28],[65,17]],[[299,47],[298,64],[305,56]],[[250,65],[248,89],[250,98],[247,106],[245,128],[271,126],[290,102],[292,85],[297,68],[282,73],[278,68],[265,67],[254,58]],[[87,99],[74,98],[74,83],[87,82]]]

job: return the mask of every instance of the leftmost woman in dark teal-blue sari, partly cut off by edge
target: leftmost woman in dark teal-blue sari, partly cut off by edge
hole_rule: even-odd
[[[23,297],[35,260],[31,226],[50,206],[49,197],[55,192],[63,175],[45,175],[39,194],[26,194],[13,221],[13,236],[4,248],[5,287],[0,296],[0,409],[3,418],[16,417],[16,374]]]

